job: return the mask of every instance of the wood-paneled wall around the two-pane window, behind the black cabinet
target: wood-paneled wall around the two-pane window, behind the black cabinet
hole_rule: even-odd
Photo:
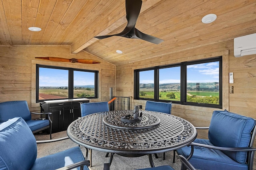
[[[50,62],[35,57],[62,57],[67,59],[93,59],[100,64]],[[36,104],[36,64],[99,70],[99,99],[109,101],[109,88],[115,87],[116,66],[85,51],[70,54],[69,45],[15,45],[0,47],[0,102],[26,100],[30,111],[40,111]]]

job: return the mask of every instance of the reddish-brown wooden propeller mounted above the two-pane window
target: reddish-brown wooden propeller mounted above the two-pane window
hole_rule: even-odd
[[[43,59],[48,61],[59,61],[59,62],[71,62],[71,63],[83,63],[83,64],[98,64],[99,61],[87,60],[87,59],[65,59],[60,57],[36,57],[36,59]]]

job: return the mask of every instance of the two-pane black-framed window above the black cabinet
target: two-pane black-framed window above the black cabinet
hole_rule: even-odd
[[[36,64],[36,102],[97,97],[97,70]]]

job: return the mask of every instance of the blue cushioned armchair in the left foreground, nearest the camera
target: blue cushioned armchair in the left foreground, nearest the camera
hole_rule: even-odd
[[[84,160],[79,147],[36,158],[36,139],[21,117],[0,124],[0,148],[1,170],[70,170],[79,166],[89,170],[90,162]]]

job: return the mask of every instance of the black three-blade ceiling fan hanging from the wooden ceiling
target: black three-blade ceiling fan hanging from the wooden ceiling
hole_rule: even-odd
[[[141,5],[142,0],[126,0],[126,19],[128,23],[124,30],[118,34],[96,36],[95,38],[104,39],[112,36],[121,36],[126,38],[143,39],[154,44],[162,43],[164,40],[142,33],[135,28],[136,21],[140,14]]]

